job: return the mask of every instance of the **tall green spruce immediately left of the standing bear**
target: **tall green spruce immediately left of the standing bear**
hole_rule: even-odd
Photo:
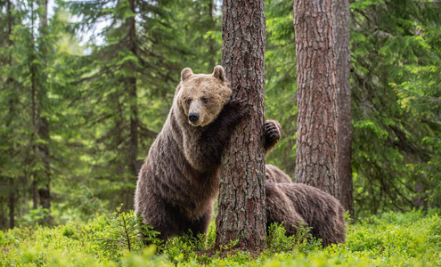
[[[77,75],[83,92],[78,102],[85,105],[85,125],[91,131],[84,134],[95,181],[88,186],[103,186],[94,193],[110,200],[110,206],[125,203],[124,210],[133,206],[133,192],[139,167],[148,145],[158,131],[149,127],[145,115],[149,107],[158,104],[157,111],[166,114],[168,88],[173,86],[170,71],[178,68],[171,59],[180,49],[173,40],[167,3],[148,4],[142,1],[78,1],[67,2],[69,11],[82,16],[77,30],[93,29],[103,21],[103,44],[92,45],[90,55],[78,62]],[[93,41],[93,40],[90,40]],[[167,93],[168,91],[168,93]],[[141,97],[150,101],[138,102]],[[143,112],[139,112],[142,109]],[[144,119],[140,119],[143,117]],[[142,155],[138,155],[143,150]],[[139,158],[138,158],[139,156]],[[110,186],[108,186],[111,184]],[[110,197],[111,196],[111,197]]]

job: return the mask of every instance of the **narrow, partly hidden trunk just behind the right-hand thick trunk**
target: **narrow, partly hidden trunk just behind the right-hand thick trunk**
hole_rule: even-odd
[[[354,196],[351,169],[351,85],[350,85],[350,37],[349,0],[332,1],[333,26],[335,36],[335,55],[337,80],[337,105],[339,130],[337,155],[339,157],[338,177],[340,181],[340,203],[354,218]]]

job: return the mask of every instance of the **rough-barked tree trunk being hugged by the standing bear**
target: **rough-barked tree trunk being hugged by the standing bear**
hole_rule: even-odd
[[[225,0],[222,65],[249,109],[222,157],[216,247],[265,247],[265,1]]]

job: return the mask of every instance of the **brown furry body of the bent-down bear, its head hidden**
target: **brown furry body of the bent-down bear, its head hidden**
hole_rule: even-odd
[[[345,242],[344,209],[339,200],[300,183],[265,183],[267,225],[282,223],[287,235],[297,226],[312,227],[311,234],[323,239],[323,247]]]

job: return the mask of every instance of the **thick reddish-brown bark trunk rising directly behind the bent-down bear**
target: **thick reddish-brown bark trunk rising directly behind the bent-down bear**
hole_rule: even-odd
[[[295,182],[339,199],[337,86],[331,0],[294,0],[298,81]]]

